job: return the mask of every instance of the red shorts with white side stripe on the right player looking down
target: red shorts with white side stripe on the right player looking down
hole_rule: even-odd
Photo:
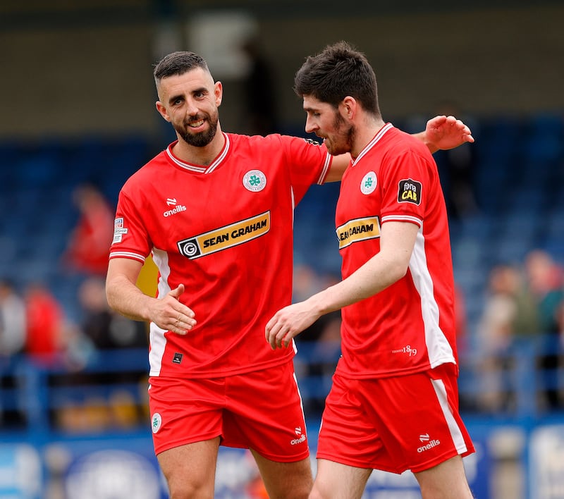
[[[422,472],[474,452],[458,414],[454,364],[379,379],[335,374],[317,458],[386,472]]]

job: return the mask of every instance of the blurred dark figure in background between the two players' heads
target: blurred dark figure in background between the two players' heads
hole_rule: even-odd
[[[268,135],[276,133],[276,91],[271,66],[262,54],[260,42],[251,37],[243,44],[243,52],[249,61],[247,77],[243,80],[245,133]]]

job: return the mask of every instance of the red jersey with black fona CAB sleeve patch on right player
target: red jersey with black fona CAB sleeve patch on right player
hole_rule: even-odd
[[[405,277],[343,308],[343,376],[395,376],[456,362],[453,268],[436,164],[422,142],[388,123],[341,181],[336,227],[343,279],[380,250],[387,221],[419,233]]]

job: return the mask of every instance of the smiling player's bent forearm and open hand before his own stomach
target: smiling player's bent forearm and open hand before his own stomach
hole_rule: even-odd
[[[196,321],[194,312],[178,301],[184,285],[178,285],[161,299],[147,296],[136,285],[141,268],[142,263],[133,259],[113,258],[109,261],[106,278],[109,306],[129,319],[152,321],[173,333],[188,333]]]

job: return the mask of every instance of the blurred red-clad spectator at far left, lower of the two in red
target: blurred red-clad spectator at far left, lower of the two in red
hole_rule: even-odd
[[[63,352],[65,316],[51,292],[41,283],[31,283],[25,291],[27,328],[25,352],[39,362],[51,362]]]

